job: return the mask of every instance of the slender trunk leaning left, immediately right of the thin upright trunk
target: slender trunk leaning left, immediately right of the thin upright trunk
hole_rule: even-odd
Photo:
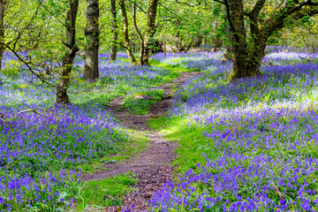
[[[136,58],[133,56],[133,50],[132,50],[130,39],[129,39],[129,29],[128,29],[129,26],[128,26],[127,11],[125,9],[125,0],[120,0],[119,5],[122,10],[122,16],[123,16],[125,49],[127,51],[130,63],[136,64]]]

